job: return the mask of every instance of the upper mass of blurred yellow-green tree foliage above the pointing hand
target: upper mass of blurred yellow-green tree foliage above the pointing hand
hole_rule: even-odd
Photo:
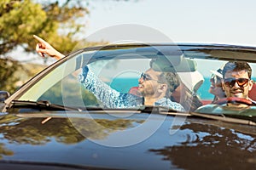
[[[59,5],[59,1],[3,0],[0,3],[0,54],[18,45],[26,51],[34,51],[33,34],[44,37],[61,53],[67,54],[79,42],[73,35],[84,27],[84,23],[76,20],[88,13],[88,8],[79,1],[67,0]]]

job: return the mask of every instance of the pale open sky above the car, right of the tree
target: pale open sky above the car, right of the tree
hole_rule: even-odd
[[[86,26],[82,37],[91,41],[210,42],[256,47],[255,0],[90,0],[89,3],[90,14],[79,22]],[[129,34],[132,28],[137,37]],[[43,63],[35,54],[20,56],[20,60],[29,58]]]

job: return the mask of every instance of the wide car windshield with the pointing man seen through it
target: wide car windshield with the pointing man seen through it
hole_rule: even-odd
[[[165,100],[155,99],[151,105],[166,106],[174,111],[237,113],[237,109],[224,110],[220,107],[216,110],[212,103],[217,98],[218,88],[222,88],[221,71],[227,62],[234,59],[247,61],[253,70],[250,80],[256,80],[253,55],[236,47],[220,46],[124,45],[84,48],[59,60],[44,74],[39,74],[38,80],[31,82],[15,100],[48,101],[67,107],[134,108],[146,105],[145,96],[151,93],[149,88],[153,88],[155,96],[160,94],[160,88],[155,87],[169,83],[166,86],[169,94],[163,96]],[[173,75],[164,79],[159,75],[154,77],[150,75],[150,69],[175,72],[178,82],[174,81]],[[229,83],[229,80],[226,81]],[[237,81],[230,80],[230,83]],[[150,82],[149,86],[146,82]],[[248,94],[252,100],[254,91]],[[127,104],[129,102],[133,104]],[[168,105],[162,105],[165,102]],[[225,100],[224,106],[229,102]],[[198,110],[204,105],[210,106]]]

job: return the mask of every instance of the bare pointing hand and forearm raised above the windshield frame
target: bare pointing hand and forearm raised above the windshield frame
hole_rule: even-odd
[[[45,54],[55,59],[61,59],[65,57],[65,55],[58,52],[55,48],[53,48],[48,42],[44,41],[44,39],[42,39],[41,37],[38,37],[36,35],[33,35],[33,37],[38,40],[36,51],[41,57],[44,58]]]

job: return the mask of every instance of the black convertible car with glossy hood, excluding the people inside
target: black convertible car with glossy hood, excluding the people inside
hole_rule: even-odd
[[[183,111],[156,105],[109,107],[79,82],[86,65],[104,83],[98,88],[140,95],[138,79],[154,67],[152,60],[177,72],[180,85],[171,97]],[[119,44],[73,52],[8,98],[1,92],[0,167],[256,169],[256,106],[236,98],[212,103],[209,93],[212,72],[235,60],[248,62],[255,80],[253,47]],[[251,99],[255,91],[249,92]]]

